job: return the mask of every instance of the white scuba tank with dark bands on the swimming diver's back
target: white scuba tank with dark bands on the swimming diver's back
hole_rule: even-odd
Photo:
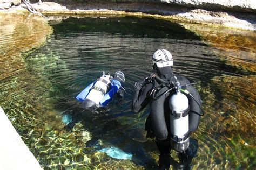
[[[100,104],[104,95],[107,93],[110,87],[110,75],[103,75],[97,79],[95,84],[92,86],[89,94],[86,96],[82,105],[84,108],[90,108],[95,104]]]

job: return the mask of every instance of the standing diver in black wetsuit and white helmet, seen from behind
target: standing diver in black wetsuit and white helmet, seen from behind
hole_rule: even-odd
[[[145,130],[147,137],[156,137],[160,152],[158,165],[169,169],[171,149],[179,152],[184,161],[189,147],[189,134],[197,130],[201,112],[201,98],[186,77],[172,72],[172,55],[166,49],[158,49],[152,56],[151,75],[136,82],[132,111],[140,112],[151,106]]]

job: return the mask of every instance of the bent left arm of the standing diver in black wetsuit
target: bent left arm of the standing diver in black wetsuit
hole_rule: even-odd
[[[132,100],[132,111],[134,113],[138,113],[149,103],[150,96],[148,94],[152,87],[152,83],[145,81],[140,81],[136,84],[135,93]]]

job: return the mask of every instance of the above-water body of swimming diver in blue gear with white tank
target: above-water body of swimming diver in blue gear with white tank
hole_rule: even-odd
[[[119,98],[124,96],[125,89],[122,87],[124,81],[124,73],[121,71],[116,72],[114,77],[103,72],[103,75],[81,91],[76,99],[83,102],[82,107],[85,109],[95,105],[106,106],[114,96]]]

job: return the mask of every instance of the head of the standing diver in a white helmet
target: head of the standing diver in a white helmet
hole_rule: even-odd
[[[171,72],[173,60],[172,54],[166,49],[158,49],[152,56],[153,69],[158,74],[165,75]]]

